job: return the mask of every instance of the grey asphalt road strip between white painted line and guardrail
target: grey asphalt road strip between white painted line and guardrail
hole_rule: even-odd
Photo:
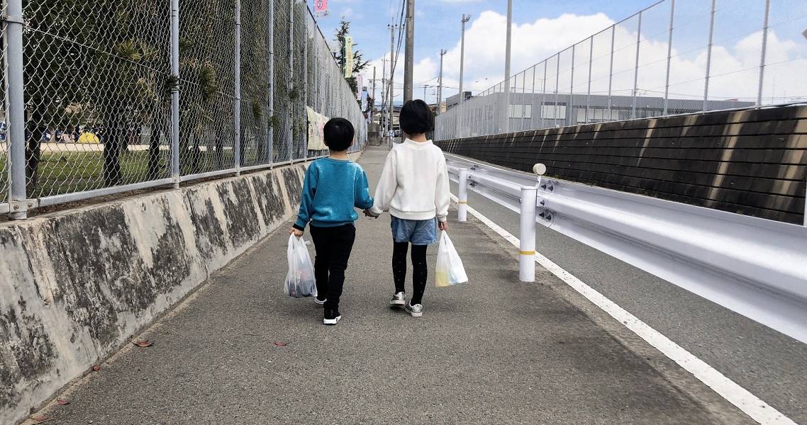
[[[457,185],[452,182],[452,193]],[[468,205],[519,234],[519,215],[469,190]],[[807,424],[807,344],[541,225],[537,251],[780,410]]]

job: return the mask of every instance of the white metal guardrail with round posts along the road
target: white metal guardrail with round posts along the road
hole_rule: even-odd
[[[541,223],[807,343],[807,227],[446,157],[461,221],[469,189],[521,214],[521,280]]]

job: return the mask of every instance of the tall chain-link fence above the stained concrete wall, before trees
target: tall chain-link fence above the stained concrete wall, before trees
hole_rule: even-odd
[[[305,2],[3,0],[2,17],[0,213],[321,156],[307,108],[366,143]]]

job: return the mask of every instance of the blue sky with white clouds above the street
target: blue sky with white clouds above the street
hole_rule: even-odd
[[[443,63],[443,97],[458,92],[463,13],[471,17],[466,23],[465,89],[477,94],[504,79],[505,0],[416,0],[415,3],[415,98],[424,97],[425,86],[425,99],[435,101],[441,48],[448,51]],[[655,3],[659,4],[653,6]],[[381,96],[382,60],[389,58],[387,25],[393,20],[397,23],[402,5],[403,0],[329,0],[329,15],[319,19],[326,35],[333,34],[341,19],[350,21],[356,48],[365,59],[372,60],[363,76],[364,85],[370,90],[373,66],[376,68],[377,98]],[[755,100],[762,56],[764,1],[717,0],[716,9],[709,98]],[[641,33],[636,15],[639,10],[645,10]],[[514,75],[526,71],[514,77],[511,85],[527,92],[535,86],[552,91],[558,85],[561,92],[586,93],[588,56],[593,52],[591,91],[607,94],[608,74],[612,72],[610,27],[617,23],[613,31],[614,94],[630,94],[633,90],[638,37],[641,42],[637,85],[641,94],[663,95],[669,84],[671,98],[702,98],[709,60],[710,11],[711,0],[676,0],[670,47],[671,0],[513,0],[511,69]],[[628,20],[621,22],[623,19]],[[767,102],[807,98],[807,81],[801,77],[807,71],[807,40],[801,34],[807,29],[807,1],[771,0],[768,23],[763,97]],[[577,44],[574,54],[573,44]],[[562,53],[554,56],[558,52]],[[665,78],[668,53],[670,81]],[[402,90],[403,46],[395,70],[396,102],[403,98]]]

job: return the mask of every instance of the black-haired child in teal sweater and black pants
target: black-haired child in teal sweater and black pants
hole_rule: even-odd
[[[314,302],[324,305],[322,323],[335,325],[342,318],[339,298],[356,239],[353,222],[358,219],[358,213],[354,208],[370,208],[373,198],[362,166],[348,159],[348,148],[353,145],[353,125],[344,118],[330,119],[323,133],[329,155],[308,167],[297,222],[289,233],[300,237],[311,223],[316,249],[317,296]]]

